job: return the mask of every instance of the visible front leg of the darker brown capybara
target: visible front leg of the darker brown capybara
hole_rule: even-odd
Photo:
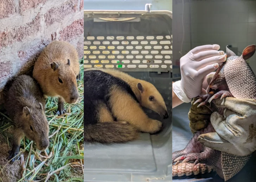
[[[23,131],[22,130],[20,130],[20,129],[14,130],[13,141],[12,141],[12,150],[8,152],[10,155],[7,158],[8,160],[11,160],[13,158],[11,160],[11,163],[14,162],[17,159],[17,157],[15,157],[15,156],[20,151],[20,140],[22,139],[22,137],[23,137]]]

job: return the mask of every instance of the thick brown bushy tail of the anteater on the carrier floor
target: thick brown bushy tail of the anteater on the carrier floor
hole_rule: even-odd
[[[139,138],[138,130],[128,123],[105,122],[85,126],[86,142],[124,143]]]

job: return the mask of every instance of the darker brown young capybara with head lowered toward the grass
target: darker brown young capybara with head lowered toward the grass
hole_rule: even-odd
[[[35,141],[39,150],[46,149],[49,126],[44,114],[45,98],[36,80],[27,75],[15,77],[7,82],[4,94],[5,109],[16,128],[12,151],[19,150],[23,134]]]

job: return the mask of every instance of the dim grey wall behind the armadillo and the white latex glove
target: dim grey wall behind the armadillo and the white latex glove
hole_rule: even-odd
[[[185,2],[183,55],[204,44],[219,44],[220,50],[225,50],[226,45],[232,45],[238,48],[238,55],[241,55],[245,47],[256,44],[256,0],[192,1],[191,15],[189,8],[189,3]],[[177,52],[180,51],[183,36],[181,16],[180,0],[178,4],[173,3],[174,60],[181,57]],[[250,58],[249,64],[256,72],[256,54]]]

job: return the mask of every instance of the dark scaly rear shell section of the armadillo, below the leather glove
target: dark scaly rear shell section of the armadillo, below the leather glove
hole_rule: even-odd
[[[221,152],[221,166],[224,180],[227,181],[235,176],[248,162],[252,154],[238,156]]]

